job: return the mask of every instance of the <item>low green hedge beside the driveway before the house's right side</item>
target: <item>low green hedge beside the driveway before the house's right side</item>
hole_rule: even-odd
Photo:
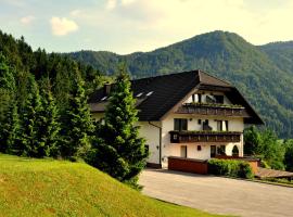
[[[207,163],[208,174],[239,177],[239,178],[253,178],[252,167],[247,162],[234,159],[209,159]]]

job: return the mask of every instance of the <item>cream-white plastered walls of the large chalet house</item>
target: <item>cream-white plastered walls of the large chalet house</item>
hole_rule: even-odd
[[[215,95],[220,95],[220,92],[213,92]],[[201,102],[206,102],[206,97],[212,95],[212,92],[203,92]],[[224,94],[222,94],[224,95]],[[198,98],[198,97],[196,97]],[[184,103],[196,102],[194,97],[188,98]],[[224,95],[224,104],[230,104],[230,101]],[[103,117],[102,113],[93,114],[93,117],[100,119]],[[243,117],[228,117],[228,116],[211,116],[211,115],[194,115],[194,114],[175,114],[169,113],[164,119],[160,122],[139,122],[140,137],[146,139],[150,156],[148,163],[162,165],[167,167],[168,156],[181,156],[187,152],[187,157],[208,159],[211,158],[211,146],[216,145],[216,150],[225,145],[227,155],[232,155],[232,149],[237,145],[239,155],[243,156],[243,133],[241,133],[240,142],[222,143],[222,142],[193,142],[193,143],[170,143],[169,131],[175,130],[175,118],[184,118],[188,123],[187,130],[203,130],[203,122],[208,119],[208,126],[212,131],[219,131],[217,122],[228,122],[228,131],[243,132],[244,119]],[[200,120],[199,120],[200,119]]]

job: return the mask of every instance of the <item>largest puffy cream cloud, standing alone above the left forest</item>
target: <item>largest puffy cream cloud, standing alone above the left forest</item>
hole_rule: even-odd
[[[50,23],[54,36],[65,36],[78,29],[78,25],[66,17],[53,16]]]

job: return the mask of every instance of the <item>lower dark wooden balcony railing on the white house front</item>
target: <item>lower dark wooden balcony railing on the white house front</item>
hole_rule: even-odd
[[[241,132],[235,131],[169,131],[170,143],[190,142],[240,142]]]

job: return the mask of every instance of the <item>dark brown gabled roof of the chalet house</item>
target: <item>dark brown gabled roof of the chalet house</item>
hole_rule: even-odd
[[[160,120],[192,90],[202,88],[209,88],[212,90],[221,88],[227,92],[233,92],[237,97],[234,99],[231,98],[231,102],[249,107],[251,117],[245,119],[250,120],[252,124],[263,123],[244,98],[239,95],[239,91],[231,84],[211,76],[202,71],[191,71],[131,80],[133,97],[138,100],[137,108],[140,111],[139,119],[142,122]],[[90,95],[89,103],[91,112],[104,111],[105,104],[107,103],[106,100],[102,100],[104,97],[103,88]],[[242,103],[234,102],[238,101],[239,97],[243,100]]]

